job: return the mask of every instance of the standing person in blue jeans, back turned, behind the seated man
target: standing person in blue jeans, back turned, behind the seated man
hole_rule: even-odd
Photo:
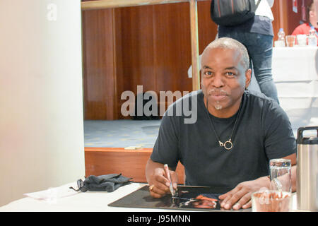
[[[257,4],[258,0],[255,0]],[[235,26],[218,26],[218,37],[232,37],[247,48],[252,60],[254,75],[261,93],[278,102],[276,85],[273,82],[271,61],[273,54],[273,13],[274,0],[261,0],[254,18]]]

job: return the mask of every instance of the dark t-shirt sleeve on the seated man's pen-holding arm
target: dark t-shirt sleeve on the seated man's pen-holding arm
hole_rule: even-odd
[[[151,154],[153,162],[167,164],[169,167],[177,167],[179,161],[177,120],[178,117],[176,116],[167,116],[167,112],[163,115],[158,138]]]

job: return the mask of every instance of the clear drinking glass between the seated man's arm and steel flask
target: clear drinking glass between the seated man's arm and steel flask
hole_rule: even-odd
[[[278,158],[269,161],[271,184],[269,189],[291,192],[291,162]]]

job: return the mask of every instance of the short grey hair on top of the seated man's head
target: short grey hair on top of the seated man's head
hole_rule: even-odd
[[[249,69],[249,54],[247,52],[246,47],[241,42],[238,42],[237,40],[234,40],[230,37],[218,38],[217,40],[214,40],[213,42],[208,44],[208,46],[206,47],[206,49],[204,49],[204,52],[202,53],[202,57],[204,57],[204,53],[209,49],[216,48],[237,50],[240,53],[240,56],[242,56],[242,66],[245,70]]]

